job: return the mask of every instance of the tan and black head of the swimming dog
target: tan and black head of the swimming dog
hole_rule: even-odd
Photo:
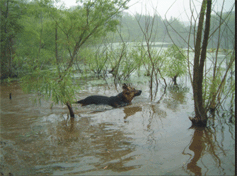
[[[141,90],[136,90],[133,87],[129,87],[126,84],[123,84],[123,97],[126,102],[131,103],[132,99],[135,96],[141,95],[142,91]]]

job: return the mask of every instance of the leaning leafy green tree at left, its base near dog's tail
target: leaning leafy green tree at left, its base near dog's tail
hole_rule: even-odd
[[[78,61],[78,53],[89,42],[116,29],[117,17],[127,8],[127,2],[80,1],[81,6],[69,10],[54,8],[51,1],[37,2],[45,11],[43,18],[38,19],[37,55],[19,57],[25,63],[32,63],[27,65],[29,73],[22,78],[23,88],[28,92],[40,92],[54,103],[65,104],[70,116],[74,117],[71,104],[75,101],[77,86],[73,79],[73,66]],[[45,47],[46,43],[51,45]]]

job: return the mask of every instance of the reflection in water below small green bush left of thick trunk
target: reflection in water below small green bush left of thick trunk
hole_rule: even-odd
[[[187,87],[177,85],[168,86],[167,98],[163,102],[167,105],[167,108],[176,110],[179,104],[186,103],[185,97],[188,92],[189,88]]]

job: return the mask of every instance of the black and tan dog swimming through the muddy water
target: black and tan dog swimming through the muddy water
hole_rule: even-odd
[[[82,106],[96,104],[96,105],[110,105],[114,108],[127,106],[131,104],[132,99],[135,96],[141,95],[141,90],[136,90],[135,88],[129,87],[126,84],[123,84],[123,92],[119,93],[117,96],[101,96],[101,95],[93,95],[89,96],[83,100],[77,101],[76,103],[82,104]]]

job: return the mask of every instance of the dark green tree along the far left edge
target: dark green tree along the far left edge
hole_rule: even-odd
[[[0,79],[16,76],[13,60],[15,57],[16,35],[22,29],[20,24],[22,4],[18,0],[2,0],[0,2]]]

